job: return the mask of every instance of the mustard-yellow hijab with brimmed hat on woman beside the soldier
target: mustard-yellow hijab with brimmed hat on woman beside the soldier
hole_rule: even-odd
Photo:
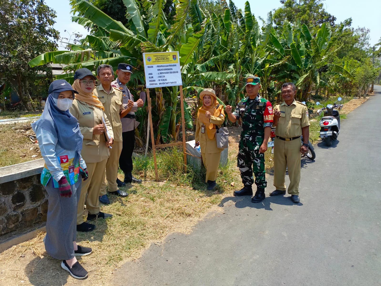
[[[211,98],[213,99],[213,102],[212,104],[210,104],[210,106],[202,105],[199,108],[199,111],[197,111],[197,118],[207,127],[206,130],[207,130],[208,138],[213,139],[216,134],[216,125],[213,123],[210,123],[210,120],[205,116],[205,112],[209,111],[212,116],[218,117],[220,114],[224,114],[224,106],[220,105],[217,108],[217,105],[218,105],[217,96],[213,89],[205,88],[200,93],[200,98],[202,98],[203,100],[205,95],[210,95]]]

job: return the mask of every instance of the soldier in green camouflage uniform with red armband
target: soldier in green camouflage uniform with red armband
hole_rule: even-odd
[[[226,113],[231,122],[242,118],[242,132],[239,142],[238,164],[243,188],[234,191],[234,196],[252,195],[251,185],[255,184],[257,191],[251,198],[252,202],[261,202],[265,199],[264,189],[267,182],[264,170],[264,153],[267,150],[271,126],[273,122],[272,106],[270,101],[259,96],[261,83],[259,77],[250,76],[246,79],[247,97],[241,100],[235,111],[230,105],[226,106]]]

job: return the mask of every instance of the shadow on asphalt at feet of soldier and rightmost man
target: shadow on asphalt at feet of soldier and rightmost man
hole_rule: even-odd
[[[252,207],[255,209],[265,209],[265,210],[272,210],[271,204],[280,204],[283,206],[303,206],[301,202],[298,204],[295,204],[291,201],[291,196],[285,195],[285,196],[269,196],[268,193],[266,193],[266,199],[264,199],[261,202],[254,203],[251,202],[251,196],[242,196],[242,197],[226,197],[224,198],[220,204],[219,207],[227,207],[234,205],[235,207],[239,209],[243,209],[245,207]]]

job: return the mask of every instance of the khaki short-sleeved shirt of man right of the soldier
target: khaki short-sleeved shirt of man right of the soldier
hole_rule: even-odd
[[[275,105],[274,109],[280,111],[280,117],[275,135],[283,138],[292,138],[302,135],[302,128],[309,126],[307,106],[294,100],[288,106],[284,101]]]

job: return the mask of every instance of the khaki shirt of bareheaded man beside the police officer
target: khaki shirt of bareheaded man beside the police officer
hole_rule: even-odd
[[[122,106],[122,92],[111,87],[110,93],[107,93],[102,85],[94,89],[94,95],[104,106],[104,113],[110,121],[114,141],[122,142],[122,122],[120,121],[120,112],[124,109]]]

